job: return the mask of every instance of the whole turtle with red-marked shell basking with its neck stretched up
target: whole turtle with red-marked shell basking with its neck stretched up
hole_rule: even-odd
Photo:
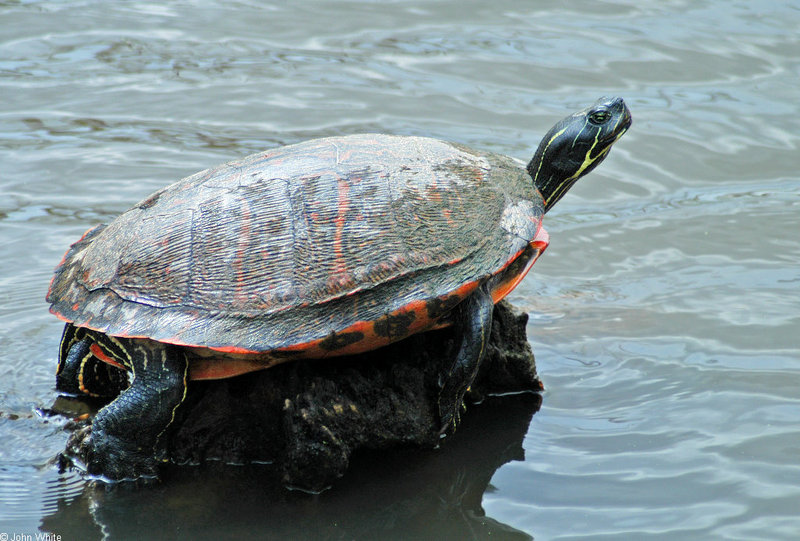
[[[495,303],[545,250],[542,218],[631,124],[604,97],[527,164],[438,139],[357,134],[206,169],[90,229],[55,269],[56,388],[110,399],[87,472],[157,477],[191,380],[375,350],[454,327],[441,375],[455,430]]]

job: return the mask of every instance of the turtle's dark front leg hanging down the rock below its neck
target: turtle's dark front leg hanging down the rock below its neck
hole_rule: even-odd
[[[460,343],[455,360],[443,374],[439,391],[440,435],[455,430],[464,407],[464,395],[478,373],[492,332],[494,302],[486,284],[467,297],[456,309],[455,325]]]

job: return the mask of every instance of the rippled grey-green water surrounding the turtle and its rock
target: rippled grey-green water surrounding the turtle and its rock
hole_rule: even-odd
[[[800,536],[797,2],[6,1],[0,19],[0,534]],[[58,473],[43,298],[88,227],[311,137],[526,159],[604,94],[633,128],[548,215],[513,295],[547,388],[532,418],[474,408],[445,449],[364,457],[315,498],[258,466],[145,491]]]

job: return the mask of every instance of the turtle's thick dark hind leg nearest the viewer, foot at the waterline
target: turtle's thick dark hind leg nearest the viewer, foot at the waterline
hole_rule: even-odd
[[[104,353],[128,368],[128,389],[101,409],[91,426],[86,469],[112,481],[156,477],[168,459],[167,438],[186,397],[188,360],[176,347],[97,334]]]

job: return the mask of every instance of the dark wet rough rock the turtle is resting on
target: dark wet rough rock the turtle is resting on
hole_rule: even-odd
[[[541,390],[525,326],[506,302],[467,402],[487,394]],[[281,481],[320,491],[346,471],[355,452],[439,444],[440,374],[452,363],[454,331],[412,336],[352,357],[296,361],[215,381],[195,381],[178,412],[169,458],[271,462]],[[78,431],[67,455],[85,457]]]

